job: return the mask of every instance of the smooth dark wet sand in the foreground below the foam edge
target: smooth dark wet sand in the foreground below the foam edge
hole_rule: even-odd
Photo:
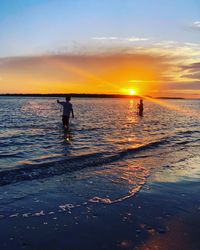
[[[57,213],[1,218],[1,249],[198,250],[200,185],[195,169],[184,177],[181,169],[163,169],[123,202],[88,202]]]

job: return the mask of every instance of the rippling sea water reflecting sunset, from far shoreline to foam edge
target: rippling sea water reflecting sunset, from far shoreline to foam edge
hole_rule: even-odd
[[[188,167],[199,154],[200,101],[145,100],[143,117],[136,102],[73,98],[66,134],[56,98],[0,97],[2,216],[26,212],[21,201],[42,211],[123,201],[152,172]]]

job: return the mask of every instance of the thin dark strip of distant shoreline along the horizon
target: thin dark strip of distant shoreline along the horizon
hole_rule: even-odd
[[[0,94],[0,96],[16,96],[16,97],[65,97],[66,95],[70,95],[71,97],[80,97],[80,98],[145,98],[141,96],[131,96],[131,95],[120,95],[120,94],[74,94],[74,93],[65,93],[65,94]],[[147,98],[153,99],[186,99],[182,97],[152,97],[146,96]]]

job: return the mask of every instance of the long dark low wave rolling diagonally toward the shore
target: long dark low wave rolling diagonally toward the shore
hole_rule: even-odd
[[[167,142],[167,139],[163,139],[135,148],[128,148],[126,150],[116,152],[115,154],[86,154],[81,156],[74,156],[65,160],[59,160],[57,162],[28,164],[15,169],[4,170],[0,172],[0,186],[26,180],[42,179],[55,175],[62,175],[65,173],[82,170],[88,167],[101,166],[103,164],[121,160],[127,156],[133,157],[134,154],[137,154],[141,151],[154,149]]]

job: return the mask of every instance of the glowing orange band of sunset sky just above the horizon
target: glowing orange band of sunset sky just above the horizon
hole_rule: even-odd
[[[138,95],[199,97],[198,81],[185,76],[193,64],[139,50],[5,58],[0,93],[129,94],[134,89]]]

